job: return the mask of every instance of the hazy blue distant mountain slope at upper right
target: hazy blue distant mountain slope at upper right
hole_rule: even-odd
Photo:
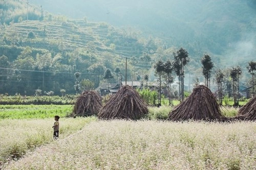
[[[86,16],[90,21],[138,28],[143,35],[163,39],[167,46],[184,46],[192,56],[209,53],[252,59],[256,54],[255,48],[250,48],[256,44],[254,0],[31,2],[55,14],[72,18]]]

